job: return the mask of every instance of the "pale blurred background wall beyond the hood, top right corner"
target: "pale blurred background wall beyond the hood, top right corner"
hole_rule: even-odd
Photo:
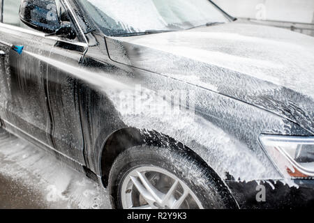
[[[314,36],[314,0],[214,0],[230,15]]]

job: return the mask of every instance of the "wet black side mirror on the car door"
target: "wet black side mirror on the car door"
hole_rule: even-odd
[[[33,29],[47,35],[62,36],[70,39],[76,33],[70,22],[61,22],[55,0],[22,0],[20,20]]]

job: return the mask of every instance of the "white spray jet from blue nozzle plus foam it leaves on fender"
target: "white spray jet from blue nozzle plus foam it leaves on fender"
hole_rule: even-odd
[[[225,178],[226,171],[235,179],[242,181],[280,178],[278,172],[269,164],[268,158],[261,150],[251,151],[246,145],[241,144],[240,141],[232,138],[204,118],[191,116],[190,111],[179,110],[173,112],[169,98],[165,101],[160,100],[160,95],[156,94],[155,91],[144,88],[141,91],[136,91],[136,89],[132,89],[131,85],[126,86],[126,84],[117,82],[105,73],[89,72],[44,56],[30,52],[27,52],[27,54],[46,61],[61,70],[66,70],[73,76],[94,84],[98,89],[104,91],[114,103],[117,111],[121,113],[121,119],[126,125],[163,132],[163,134],[178,139],[186,145],[190,141],[195,141],[203,146],[206,149],[193,149],[198,149],[199,155],[204,157],[222,178]],[[138,100],[140,100],[142,102],[140,106],[137,106],[136,109],[130,107],[130,97],[137,99],[135,105],[139,105]],[[217,106],[218,104],[217,102]],[[160,107],[163,108],[163,112],[156,112],[156,110],[151,109]],[[223,107],[216,107],[215,109],[219,110]],[[255,111],[252,110],[252,116],[257,115]],[[230,112],[239,113],[241,111],[240,109],[234,109]],[[260,115],[263,116],[264,113],[261,111]],[[241,114],[238,114],[238,116],[241,117]],[[269,123],[271,123],[271,119]],[[285,125],[286,123],[281,123],[282,128]],[[251,126],[248,126],[248,128],[251,128]]]

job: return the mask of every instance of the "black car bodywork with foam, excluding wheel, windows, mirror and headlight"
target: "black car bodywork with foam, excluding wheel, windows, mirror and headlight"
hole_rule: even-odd
[[[314,206],[314,175],[297,167],[283,173],[262,141],[313,140],[312,37],[231,17],[186,31],[110,36],[84,4],[65,0],[70,40],[9,24],[6,1],[0,40],[24,45],[22,55],[0,46],[0,118],[9,132],[104,186],[127,148],[171,145],[213,169],[240,208]],[[189,106],[173,112],[182,92]],[[166,112],[151,109],[158,107]],[[266,199],[257,199],[259,185]]]

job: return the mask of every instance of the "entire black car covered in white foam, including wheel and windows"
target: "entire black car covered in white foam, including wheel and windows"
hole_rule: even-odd
[[[114,208],[313,208],[314,38],[207,0],[0,2],[2,128]]]

